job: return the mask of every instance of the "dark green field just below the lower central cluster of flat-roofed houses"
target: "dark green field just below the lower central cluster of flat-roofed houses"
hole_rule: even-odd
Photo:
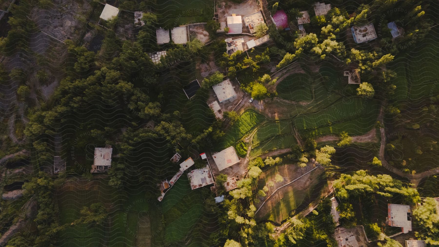
[[[162,201],[165,216],[165,240],[167,243],[181,240],[193,228],[203,214],[202,189],[191,190],[189,179],[183,175]]]

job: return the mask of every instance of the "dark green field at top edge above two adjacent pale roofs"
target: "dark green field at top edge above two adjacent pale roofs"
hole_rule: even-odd
[[[161,26],[179,26],[207,22],[214,12],[213,0],[166,0],[157,1],[152,11]]]

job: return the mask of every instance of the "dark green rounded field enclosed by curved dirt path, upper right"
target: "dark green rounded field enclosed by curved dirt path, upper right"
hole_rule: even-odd
[[[307,74],[292,74],[277,84],[278,97],[294,101],[313,100],[313,91]]]

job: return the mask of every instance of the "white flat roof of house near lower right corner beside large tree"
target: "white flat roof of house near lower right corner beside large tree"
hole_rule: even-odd
[[[409,205],[387,204],[390,226],[401,227],[404,233],[411,231],[411,212]]]

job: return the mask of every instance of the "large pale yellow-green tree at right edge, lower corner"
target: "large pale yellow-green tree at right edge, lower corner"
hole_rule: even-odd
[[[416,236],[425,239],[426,243],[439,245],[439,213],[438,204],[434,198],[426,198],[421,206],[413,210],[413,216],[421,231]]]

